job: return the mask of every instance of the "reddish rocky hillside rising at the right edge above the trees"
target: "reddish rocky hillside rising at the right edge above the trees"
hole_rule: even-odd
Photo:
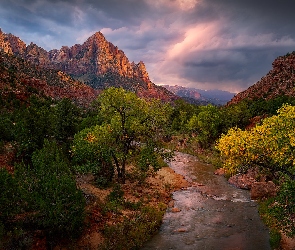
[[[238,93],[227,105],[239,103],[244,99],[269,100],[281,95],[295,96],[295,52],[276,58],[272,69],[264,77]]]

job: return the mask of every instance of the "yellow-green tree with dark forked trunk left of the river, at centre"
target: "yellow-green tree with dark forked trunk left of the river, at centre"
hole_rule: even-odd
[[[159,157],[168,157],[161,138],[171,112],[169,105],[145,101],[122,88],[109,88],[98,100],[104,122],[82,130],[74,139],[74,160],[84,169],[108,169],[110,179],[114,169],[119,182],[124,183],[126,164],[135,156],[146,154],[145,159],[157,159],[144,161],[140,157],[141,165],[145,162],[154,168]]]

